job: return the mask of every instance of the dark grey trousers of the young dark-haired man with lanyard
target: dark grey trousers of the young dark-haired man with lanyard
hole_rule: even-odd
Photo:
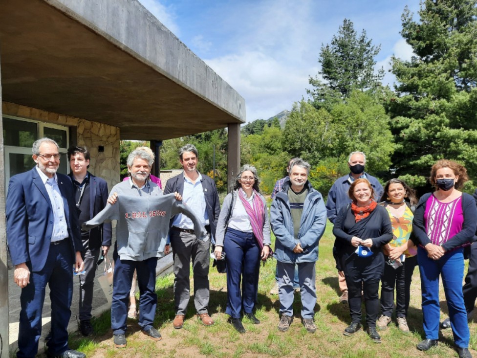
[[[80,275],[80,299],[79,318],[80,321],[91,319],[91,309],[93,302],[94,277],[96,276],[96,263],[98,262],[101,247],[90,249],[85,248],[83,261],[85,262],[84,275]]]

